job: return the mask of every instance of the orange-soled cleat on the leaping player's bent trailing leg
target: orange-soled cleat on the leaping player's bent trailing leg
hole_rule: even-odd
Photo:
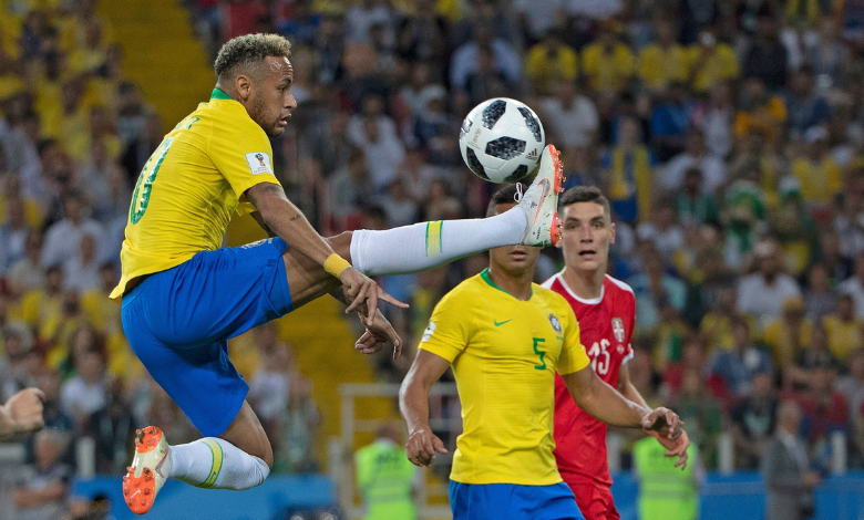
[[[150,511],[171,472],[168,441],[155,426],[135,430],[135,457],[123,477],[123,500],[135,514]]]

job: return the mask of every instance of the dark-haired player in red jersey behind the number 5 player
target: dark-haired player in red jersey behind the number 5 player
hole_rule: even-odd
[[[609,201],[595,187],[575,187],[559,197],[564,221],[564,270],[543,287],[563,295],[582,329],[582,343],[597,375],[625,397],[648,407],[630,383],[636,299],[632,289],[606,274],[615,242]],[[586,520],[618,520],[606,453],[606,424],[580,410],[559,375],[555,377],[555,459]],[[646,431],[647,435],[652,435]],[[678,440],[655,435],[667,456],[687,466],[687,434]]]

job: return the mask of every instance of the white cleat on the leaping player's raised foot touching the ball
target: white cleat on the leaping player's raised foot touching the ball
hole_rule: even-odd
[[[564,165],[559,156],[554,145],[543,149],[537,176],[518,201],[528,218],[523,246],[555,246],[562,238],[558,194],[564,191]]]

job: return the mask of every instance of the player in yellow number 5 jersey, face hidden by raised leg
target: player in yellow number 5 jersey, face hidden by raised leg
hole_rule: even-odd
[[[495,194],[490,214],[510,209],[514,191]],[[671,410],[630,402],[597,376],[569,304],[532,283],[538,254],[491,250],[488,269],[435,306],[402,383],[408,457],[428,466],[446,451],[429,427],[429,391],[453,366],[463,422],[450,474],[454,520],[584,520],[553,456],[556,372],[579,408],[605,423],[681,434]]]

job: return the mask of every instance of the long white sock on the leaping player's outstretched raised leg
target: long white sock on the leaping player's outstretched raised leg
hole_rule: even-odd
[[[384,231],[362,229],[351,237],[351,264],[369,275],[424,271],[520,243],[526,226],[525,211],[512,208],[488,218],[436,220]]]

